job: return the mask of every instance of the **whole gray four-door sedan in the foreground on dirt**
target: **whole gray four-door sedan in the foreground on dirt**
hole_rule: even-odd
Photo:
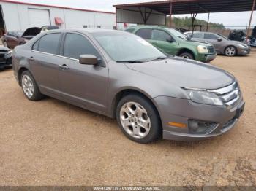
[[[232,74],[168,57],[124,31],[47,31],[13,51],[24,95],[48,95],[108,117],[139,143],[197,140],[233,128],[244,110]]]

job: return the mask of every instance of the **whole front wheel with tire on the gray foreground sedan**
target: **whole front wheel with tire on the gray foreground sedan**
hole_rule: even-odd
[[[132,141],[147,144],[161,136],[158,112],[142,95],[130,94],[121,98],[116,109],[116,119],[124,135]]]

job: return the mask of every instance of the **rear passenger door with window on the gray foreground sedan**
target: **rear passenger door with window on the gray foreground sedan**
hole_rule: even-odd
[[[31,70],[40,89],[58,95],[59,85],[59,47],[61,33],[42,36],[34,43],[29,57]]]

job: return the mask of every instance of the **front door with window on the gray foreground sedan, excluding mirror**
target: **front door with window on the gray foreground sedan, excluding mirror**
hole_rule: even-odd
[[[72,103],[86,106],[97,112],[106,112],[108,95],[108,66],[102,55],[87,36],[67,33],[61,51],[59,80],[61,95]],[[95,55],[101,64],[79,63],[80,55]]]

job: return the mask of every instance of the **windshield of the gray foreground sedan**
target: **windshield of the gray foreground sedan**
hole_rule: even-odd
[[[128,33],[95,33],[94,38],[116,62],[143,62],[166,57],[146,40]]]

